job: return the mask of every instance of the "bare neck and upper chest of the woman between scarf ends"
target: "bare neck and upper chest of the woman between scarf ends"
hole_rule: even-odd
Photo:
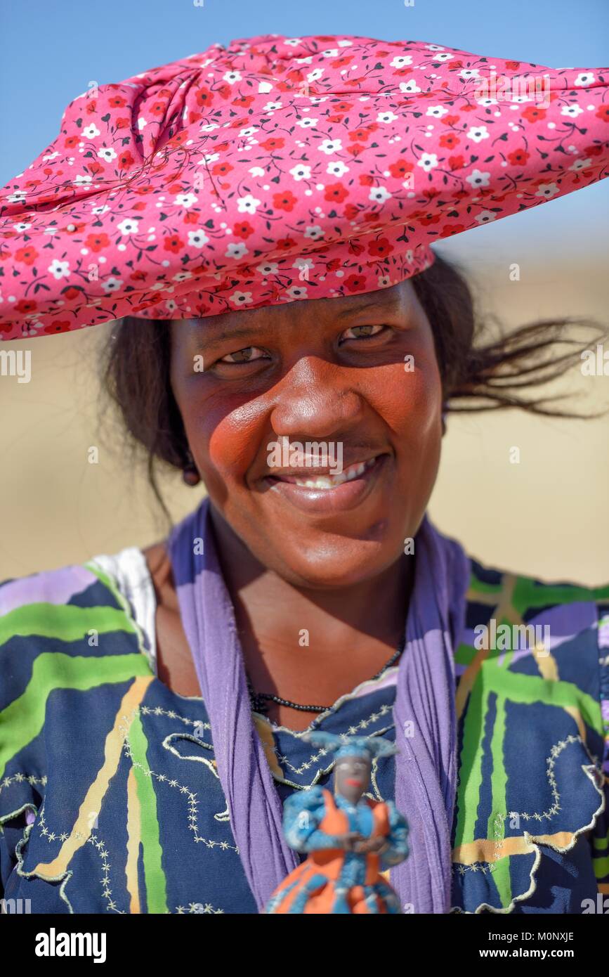
[[[384,667],[404,634],[412,559],[351,586],[306,589],[262,566],[213,509],[212,526],[257,693],[329,706]],[[272,702],[267,714],[295,730],[315,718]]]

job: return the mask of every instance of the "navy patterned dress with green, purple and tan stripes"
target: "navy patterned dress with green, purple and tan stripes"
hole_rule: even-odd
[[[593,912],[609,894],[609,586],[470,568],[452,911]],[[491,619],[550,625],[549,647],[477,649],[474,628]],[[257,912],[205,704],[156,677],[153,626],[135,548],[0,584],[0,879],[12,905]],[[393,741],[396,674],[363,683],[315,726]],[[333,760],[255,722],[284,802],[330,786]],[[371,800],[393,799],[393,763],[375,760]]]

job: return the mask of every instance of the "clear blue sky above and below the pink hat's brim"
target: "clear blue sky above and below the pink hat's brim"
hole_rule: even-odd
[[[90,81],[120,81],[234,37],[351,33],[550,67],[609,65],[609,0],[4,0],[0,31],[0,185],[55,138],[63,108]],[[480,228],[474,246],[530,234],[533,248],[552,234],[579,254],[607,247],[608,185]]]

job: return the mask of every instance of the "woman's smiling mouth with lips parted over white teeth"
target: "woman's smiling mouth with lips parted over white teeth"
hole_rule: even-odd
[[[296,474],[268,475],[264,484],[305,512],[341,512],[359,505],[370,493],[387,459],[387,454],[377,454],[365,461],[354,462],[336,474],[329,470],[300,470]]]

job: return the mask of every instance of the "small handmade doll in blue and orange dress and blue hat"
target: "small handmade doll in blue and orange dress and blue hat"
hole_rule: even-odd
[[[306,739],[336,750],[334,795],[322,786],[292,794],[283,830],[306,860],[275,889],[266,913],[401,913],[382,871],[408,856],[406,819],[388,800],[364,797],[374,756],[397,752],[386,740],[330,733]]]

